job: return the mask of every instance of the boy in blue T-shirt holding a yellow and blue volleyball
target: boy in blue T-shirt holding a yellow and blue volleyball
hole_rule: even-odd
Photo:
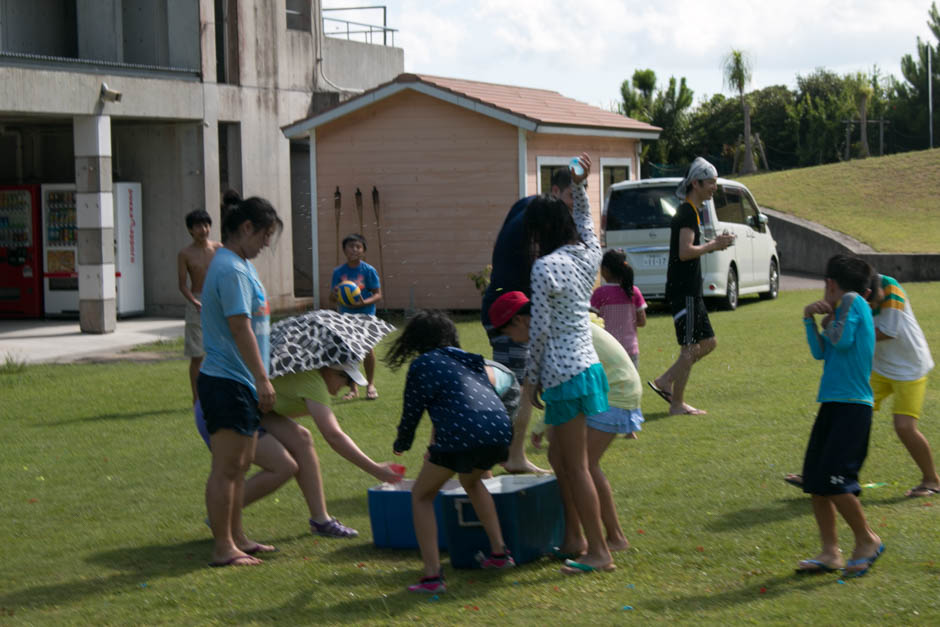
[[[375,315],[375,304],[382,300],[382,289],[379,282],[379,273],[367,264],[362,258],[366,252],[366,238],[359,233],[351,233],[343,238],[343,254],[346,263],[333,270],[333,280],[330,283],[330,304],[338,307],[340,313]],[[344,281],[351,281],[359,287],[360,296],[355,301],[337,298],[336,286]],[[366,398],[370,401],[379,397],[375,389],[375,351],[369,351],[362,360],[366,367]],[[359,387],[350,383],[349,393],[343,400],[352,400],[359,397]]]

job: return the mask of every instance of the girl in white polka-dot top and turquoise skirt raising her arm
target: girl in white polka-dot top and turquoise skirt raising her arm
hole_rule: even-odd
[[[566,560],[562,572],[577,575],[615,566],[601,524],[597,490],[587,464],[585,416],[607,411],[607,376],[591,341],[588,307],[601,262],[584,181],[591,170],[571,173],[572,211],[561,200],[539,196],[526,209],[526,232],[538,258],[532,264],[532,320],[526,377],[532,404],[552,427],[549,462],[566,507],[578,511],[587,551]]]

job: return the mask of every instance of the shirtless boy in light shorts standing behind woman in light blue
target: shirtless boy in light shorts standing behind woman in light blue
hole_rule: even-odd
[[[199,377],[199,368],[206,353],[202,349],[202,324],[199,315],[202,312],[200,293],[202,282],[206,278],[209,264],[215,251],[222,247],[222,242],[209,239],[209,229],[212,227],[212,218],[204,209],[190,211],[186,215],[186,228],[193,241],[184,247],[176,257],[177,272],[179,275],[180,293],[186,299],[186,338],[183,354],[190,358],[189,383],[193,391],[193,405],[196,404],[196,379]],[[186,277],[189,277],[187,286]]]

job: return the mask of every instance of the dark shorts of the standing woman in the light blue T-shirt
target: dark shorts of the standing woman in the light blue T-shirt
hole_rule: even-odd
[[[196,390],[210,435],[219,429],[231,429],[252,437],[261,425],[258,399],[244,383],[200,372]]]

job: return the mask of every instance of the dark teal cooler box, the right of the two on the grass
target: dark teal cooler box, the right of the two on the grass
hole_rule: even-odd
[[[517,564],[539,559],[561,544],[565,530],[558,482],[552,476],[501,475],[484,479],[493,495],[503,540]],[[444,535],[454,568],[478,568],[477,551],[489,556],[490,542],[463,488],[443,490]]]

